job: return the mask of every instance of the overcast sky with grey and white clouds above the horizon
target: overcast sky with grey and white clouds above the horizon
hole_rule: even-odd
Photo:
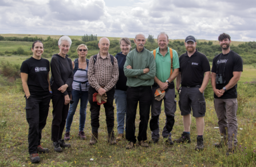
[[[1,34],[256,41],[255,0],[0,0]]]

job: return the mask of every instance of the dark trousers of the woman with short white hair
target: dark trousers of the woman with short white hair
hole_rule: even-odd
[[[69,98],[71,92],[68,92]],[[52,122],[52,141],[58,142],[62,138],[62,133],[68,116],[69,104],[65,105],[65,97],[61,92],[53,92],[53,122]]]

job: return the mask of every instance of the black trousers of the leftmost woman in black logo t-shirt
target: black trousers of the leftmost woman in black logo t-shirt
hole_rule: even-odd
[[[45,128],[49,112],[49,103],[52,94],[46,96],[30,95],[26,99],[26,120],[29,123],[29,154],[37,153],[37,146],[40,145],[42,129]]]

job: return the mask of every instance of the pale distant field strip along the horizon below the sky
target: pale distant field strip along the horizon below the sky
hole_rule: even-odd
[[[58,39],[61,37],[61,35],[41,35],[41,34],[0,34],[1,36],[3,37],[19,37],[19,38],[24,38],[24,37],[42,37],[43,39],[46,39],[47,37],[51,37],[53,39]],[[77,35],[69,35],[69,37],[71,39],[78,39],[78,40],[81,40],[81,36],[83,34],[81,34],[80,36],[77,36]],[[146,35],[147,37],[147,35]],[[98,37],[98,40],[100,39],[101,37]],[[110,40],[113,40],[113,39],[121,39],[121,37],[108,37]],[[155,37],[157,38],[157,37]],[[216,37],[217,38],[217,37]],[[129,39],[134,39],[134,38],[129,38]],[[181,42],[184,42],[185,39],[170,39],[171,42],[173,41],[181,41]],[[206,39],[197,39],[198,42],[208,42],[209,40],[206,40]],[[155,39],[155,41],[157,41],[157,39]],[[212,40],[210,40],[212,41]],[[213,42],[213,45],[218,45],[219,44],[219,41],[212,41]],[[245,43],[245,42],[242,42],[242,41],[232,41],[232,44],[234,46],[238,46],[239,44],[241,43]],[[1,51],[1,50],[0,50]]]

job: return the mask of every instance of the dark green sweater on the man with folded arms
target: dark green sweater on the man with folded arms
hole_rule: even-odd
[[[127,69],[126,66],[132,66],[132,69]],[[145,68],[149,69],[148,73],[143,73]],[[153,85],[156,75],[156,62],[151,51],[143,49],[138,52],[135,49],[130,51],[124,63],[124,75],[127,77],[127,86],[151,86]]]

